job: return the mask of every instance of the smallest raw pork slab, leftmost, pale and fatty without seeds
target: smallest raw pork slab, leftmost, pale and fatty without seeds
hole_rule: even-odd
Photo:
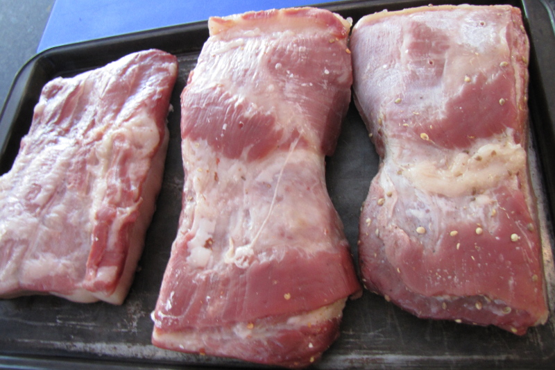
[[[162,183],[176,58],[133,53],[42,90],[0,178],[0,296],[121,304]]]

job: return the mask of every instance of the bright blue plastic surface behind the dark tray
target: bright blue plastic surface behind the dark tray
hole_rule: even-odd
[[[56,0],[37,52],[101,37],[203,21],[248,10],[322,3],[314,0]]]

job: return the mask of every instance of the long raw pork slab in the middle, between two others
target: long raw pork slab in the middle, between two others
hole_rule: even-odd
[[[185,186],[153,344],[302,367],[359,292],[327,194],[350,25],[291,8],[211,18],[182,93]]]

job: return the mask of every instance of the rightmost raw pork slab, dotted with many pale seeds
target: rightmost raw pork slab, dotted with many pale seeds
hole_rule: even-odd
[[[364,285],[418,317],[518,335],[545,322],[520,10],[380,12],[350,47],[382,158],[359,224]]]

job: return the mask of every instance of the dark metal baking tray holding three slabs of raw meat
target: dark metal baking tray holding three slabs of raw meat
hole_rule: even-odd
[[[468,1],[466,1],[468,2]],[[470,1],[489,4],[495,1]],[[343,1],[327,8],[356,22],[387,8],[399,10],[427,1]],[[434,4],[447,3],[434,1]],[[448,1],[456,3],[456,1]],[[514,1],[523,10],[531,39],[530,115],[538,153],[538,192],[545,213],[545,233],[552,240],[555,207],[555,60],[554,17],[547,3]],[[172,26],[44,51],[17,75],[0,115],[0,172],[10,169],[19,141],[28,131],[33,107],[46,81],[99,67],[127,53],[157,48],[178,56],[180,72],[169,115],[170,142],[157,211],[135,281],[121,306],[78,304],[54,296],[0,300],[0,369],[196,369],[255,368],[239,360],[176,353],[151,345],[151,311],[177,232],[183,170],[180,155],[179,95],[207,39],[206,22]],[[357,110],[350,106],[336,153],[327,158],[327,185],[357,256],[358,218],[378,157]],[[548,272],[552,250],[546,251]],[[549,288],[553,288],[550,279]],[[553,299],[554,294],[550,298]],[[552,306],[553,310],[553,306]],[[555,319],[518,337],[498,328],[452,321],[423,320],[368,291],[348,301],[341,337],[315,369],[522,368],[550,369],[555,364]]]

